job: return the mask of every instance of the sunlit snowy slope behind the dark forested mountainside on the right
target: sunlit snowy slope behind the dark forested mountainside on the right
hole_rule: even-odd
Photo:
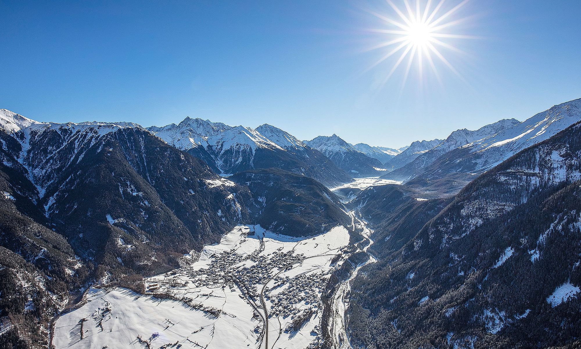
[[[554,136],[581,120],[581,99],[555,105],[530,119],[516,124],[494,136],[453,149],[431,165],[416,172],[410,181],[417,188],[441,191],[443,180],[449,183],[449,193],[460,190],[475,175],[485,172],[516,154],[518,151]],[[427,185],[426,185],[427,184]],[[445,187],[445,186],[444,186]]]

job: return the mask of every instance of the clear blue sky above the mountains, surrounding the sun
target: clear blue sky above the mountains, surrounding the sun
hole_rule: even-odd
[[[397,5],[402,0],[394,0]],[[412,0],[413,2],[413,0]],[[447,0],[450,8],[458,0]],[[403,6],[402,6],[403,7]],[[442,85],[414,67],[402,88],[393,60],[364,72],[387,40],[368,1],[0,1],[0,108],[41,121],[185,116],[301,139],[401,147],[506,117],[524,120],[581,98],[581,1],[472,0],[449,33],[468,55],[442,50]]]

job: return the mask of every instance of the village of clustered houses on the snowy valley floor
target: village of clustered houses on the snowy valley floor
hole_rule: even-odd
[[[277,336],[281,333],[300,332],[311,316],[320,310],[322,289],[334,270],[333,267],[342,263],[342,258],[333,257],[341,257],[345,246],[332,248],[331,244],[314,242],[315,237],[312,243],[298,239],[296,242],[285,241],[286,245],[273,250],[272,241],[267,239],[265,243],[265,232],[260,228],[257,233],[254,226],[239,227],[238,232],[241,240],[229,250],[216,250],[211,255],[206,255],[209,263],[200,255],[198,258],[201,257],[201,265],[197,263],[199,259],[191,265],[146,280],[146,292],[177,298],[214,315],[219,315],[221,310],[203,305],[207,302],[199,301],[198,298],[221,296],[214,291],[202,293],[199,290],[229,289],[231,292],[238,292],[239,297],[253,308],[253,319],[260,322],[253,329],[254,333],[259,334],[257,342],[263,340],[265,335],[263,304],[260,302],[263,297],[268,319],[280,319],[278,326],[275,326],[279,332]],[[250,253],[242,247],[248,240],[250,243],[257,243],[257,249]],[[310,246],[305,246],[307,244]],[[321,248],[318,248],[319,245]],[[309,250],[308,255],[299,252],[300,250]],[[313,254],[315,251],[321,251],[320,254],[328,257],[327,259],[333,259],[327,270],[321,272],[317,266],[293,270],[293,267],[302,265],[305,259],[318,257]],[[191,294],[195,294],[195,297],[190,297]],[[310,344],[321,339],[318,325],[313,326],[309,336],[312,337]]]

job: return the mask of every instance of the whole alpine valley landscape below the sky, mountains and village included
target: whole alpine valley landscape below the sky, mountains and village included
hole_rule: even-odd
[[[402,148],[0,109],[0,348],[581,347],[581,99]]]

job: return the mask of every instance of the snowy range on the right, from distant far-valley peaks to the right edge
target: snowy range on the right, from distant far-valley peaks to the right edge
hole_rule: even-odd
[[[538,144],[581,121],[581,99],[555,105],[519,123],[515,119],[483,127],[474,134],[460,130],[451,134],[442,147],[437,145],[414,162],[394,170],[385,178],[431,183],[454,178],[453,190],[460,190],[476,175],[492,169],[517,152]],[[481,131],[482,130],[482,131]],[[489,133],[486,136],[486,133]],[[469,137],[466,137],[469,136]],[[468,143],[459,145],[468,141]],[[457,146],[458,145],[458,146]]]

